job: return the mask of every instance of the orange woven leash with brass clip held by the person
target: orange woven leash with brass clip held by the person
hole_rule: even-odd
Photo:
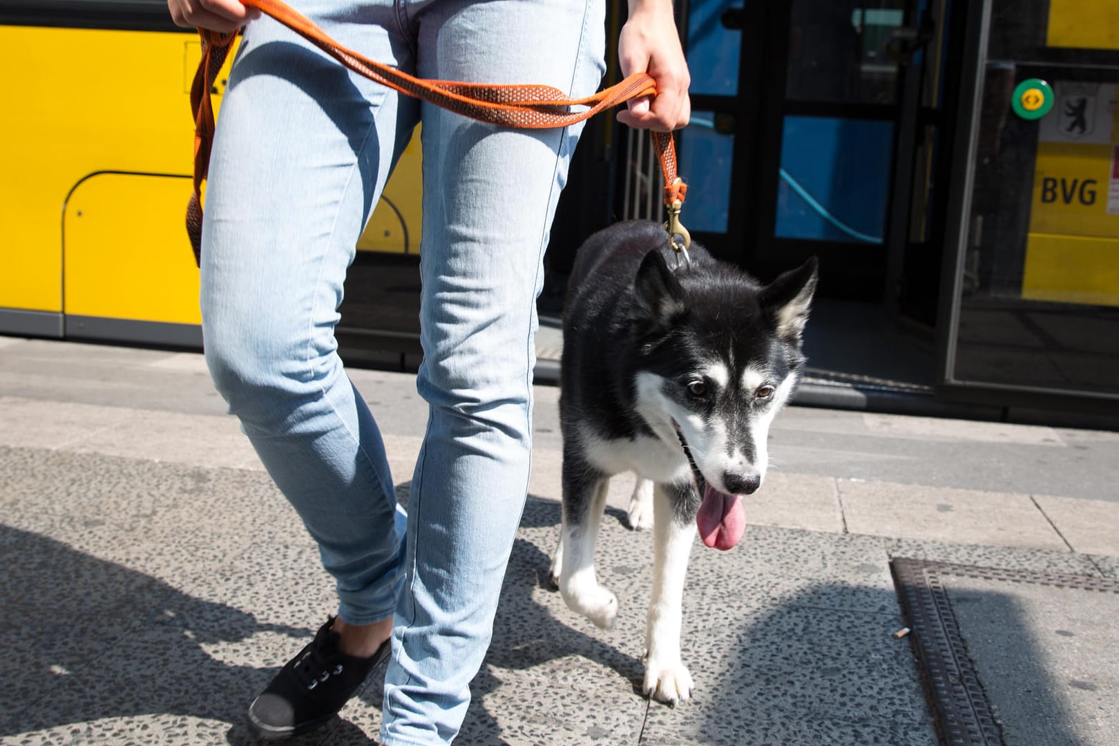
[[[347,49],[310,19],[300,15],[281,0],[241,0],[250,8],[257,8],[292,29],[314,46],[355,73],[399,93],[422,98],[463,116],[511,128],[551,129],[567,126],[594,116],[618,104],[657,94],[651,76],[646,73],[631,75],[624,81],[584,98],[570,98],[558,88],[546,85],[486,85],[454,81],[422,81],[395,67],[369,59]],[[195,251],[195,261],[201,262],[201,183],[209,170],[209,154],[214,141],[214,104],[211,92],[218,72],[225,63],[236,34],[218,34],[198,29],[201,36],[203,57],[190,88],[190,106],[195,115],[195,173],[194,193],[187,206],[187,235]],[[581,107],[572,111],[572,106]],[[650,132],[660,155],[665,177],[665,207],[669,220],[669,243],[680,251],[690,243],[687,230],[679,224],[680,206],[687,186],[676,173],[676,148],[669,132]],[[677,236],[679,238],[677,238]]]

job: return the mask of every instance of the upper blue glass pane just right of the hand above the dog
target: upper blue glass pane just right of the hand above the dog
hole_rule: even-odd
[[[688,69],[696,94],[739,93],[742,31],[723,26],[723,12],[742,8],[742,0],[693,0],[688,7]]]

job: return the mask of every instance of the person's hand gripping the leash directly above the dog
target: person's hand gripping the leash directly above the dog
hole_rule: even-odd
[[[657,83],[656,97],[642,96],[618,113],[618,121],[641,130],[671,132],[688,123],[692,76],[684,59],[671,0],[630,0],[629,20],[618,37],[622,75],[648,73]]]

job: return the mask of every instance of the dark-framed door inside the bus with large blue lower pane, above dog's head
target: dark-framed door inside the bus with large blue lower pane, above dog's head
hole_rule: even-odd
[[[820,258],[831,298],[894,302],[910,220],[921,73],[935,25],[914,0],[773,6],[771,114],[755,261]],[[783,48],[781,44],[783,43]]]

